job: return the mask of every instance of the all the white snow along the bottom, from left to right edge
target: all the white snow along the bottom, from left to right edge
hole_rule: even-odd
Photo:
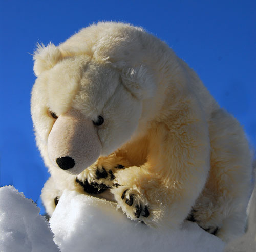
[[[225,251],[255,250],[255,196],[253,200],[249,232]],[[0,188],[0,252],[220,252],[225,247],[195,223],[184,222],[176,231],[156,230],[129,220],[115,203],[67,190],[50,227],[52,231],[32,200],[12,186]]]

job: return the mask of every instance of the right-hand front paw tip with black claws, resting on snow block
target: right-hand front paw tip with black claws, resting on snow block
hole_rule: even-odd
[[[119,207],[134,220],[143,221],[150,216],[147,199],[137,190],[121,186],[112,190]]]

